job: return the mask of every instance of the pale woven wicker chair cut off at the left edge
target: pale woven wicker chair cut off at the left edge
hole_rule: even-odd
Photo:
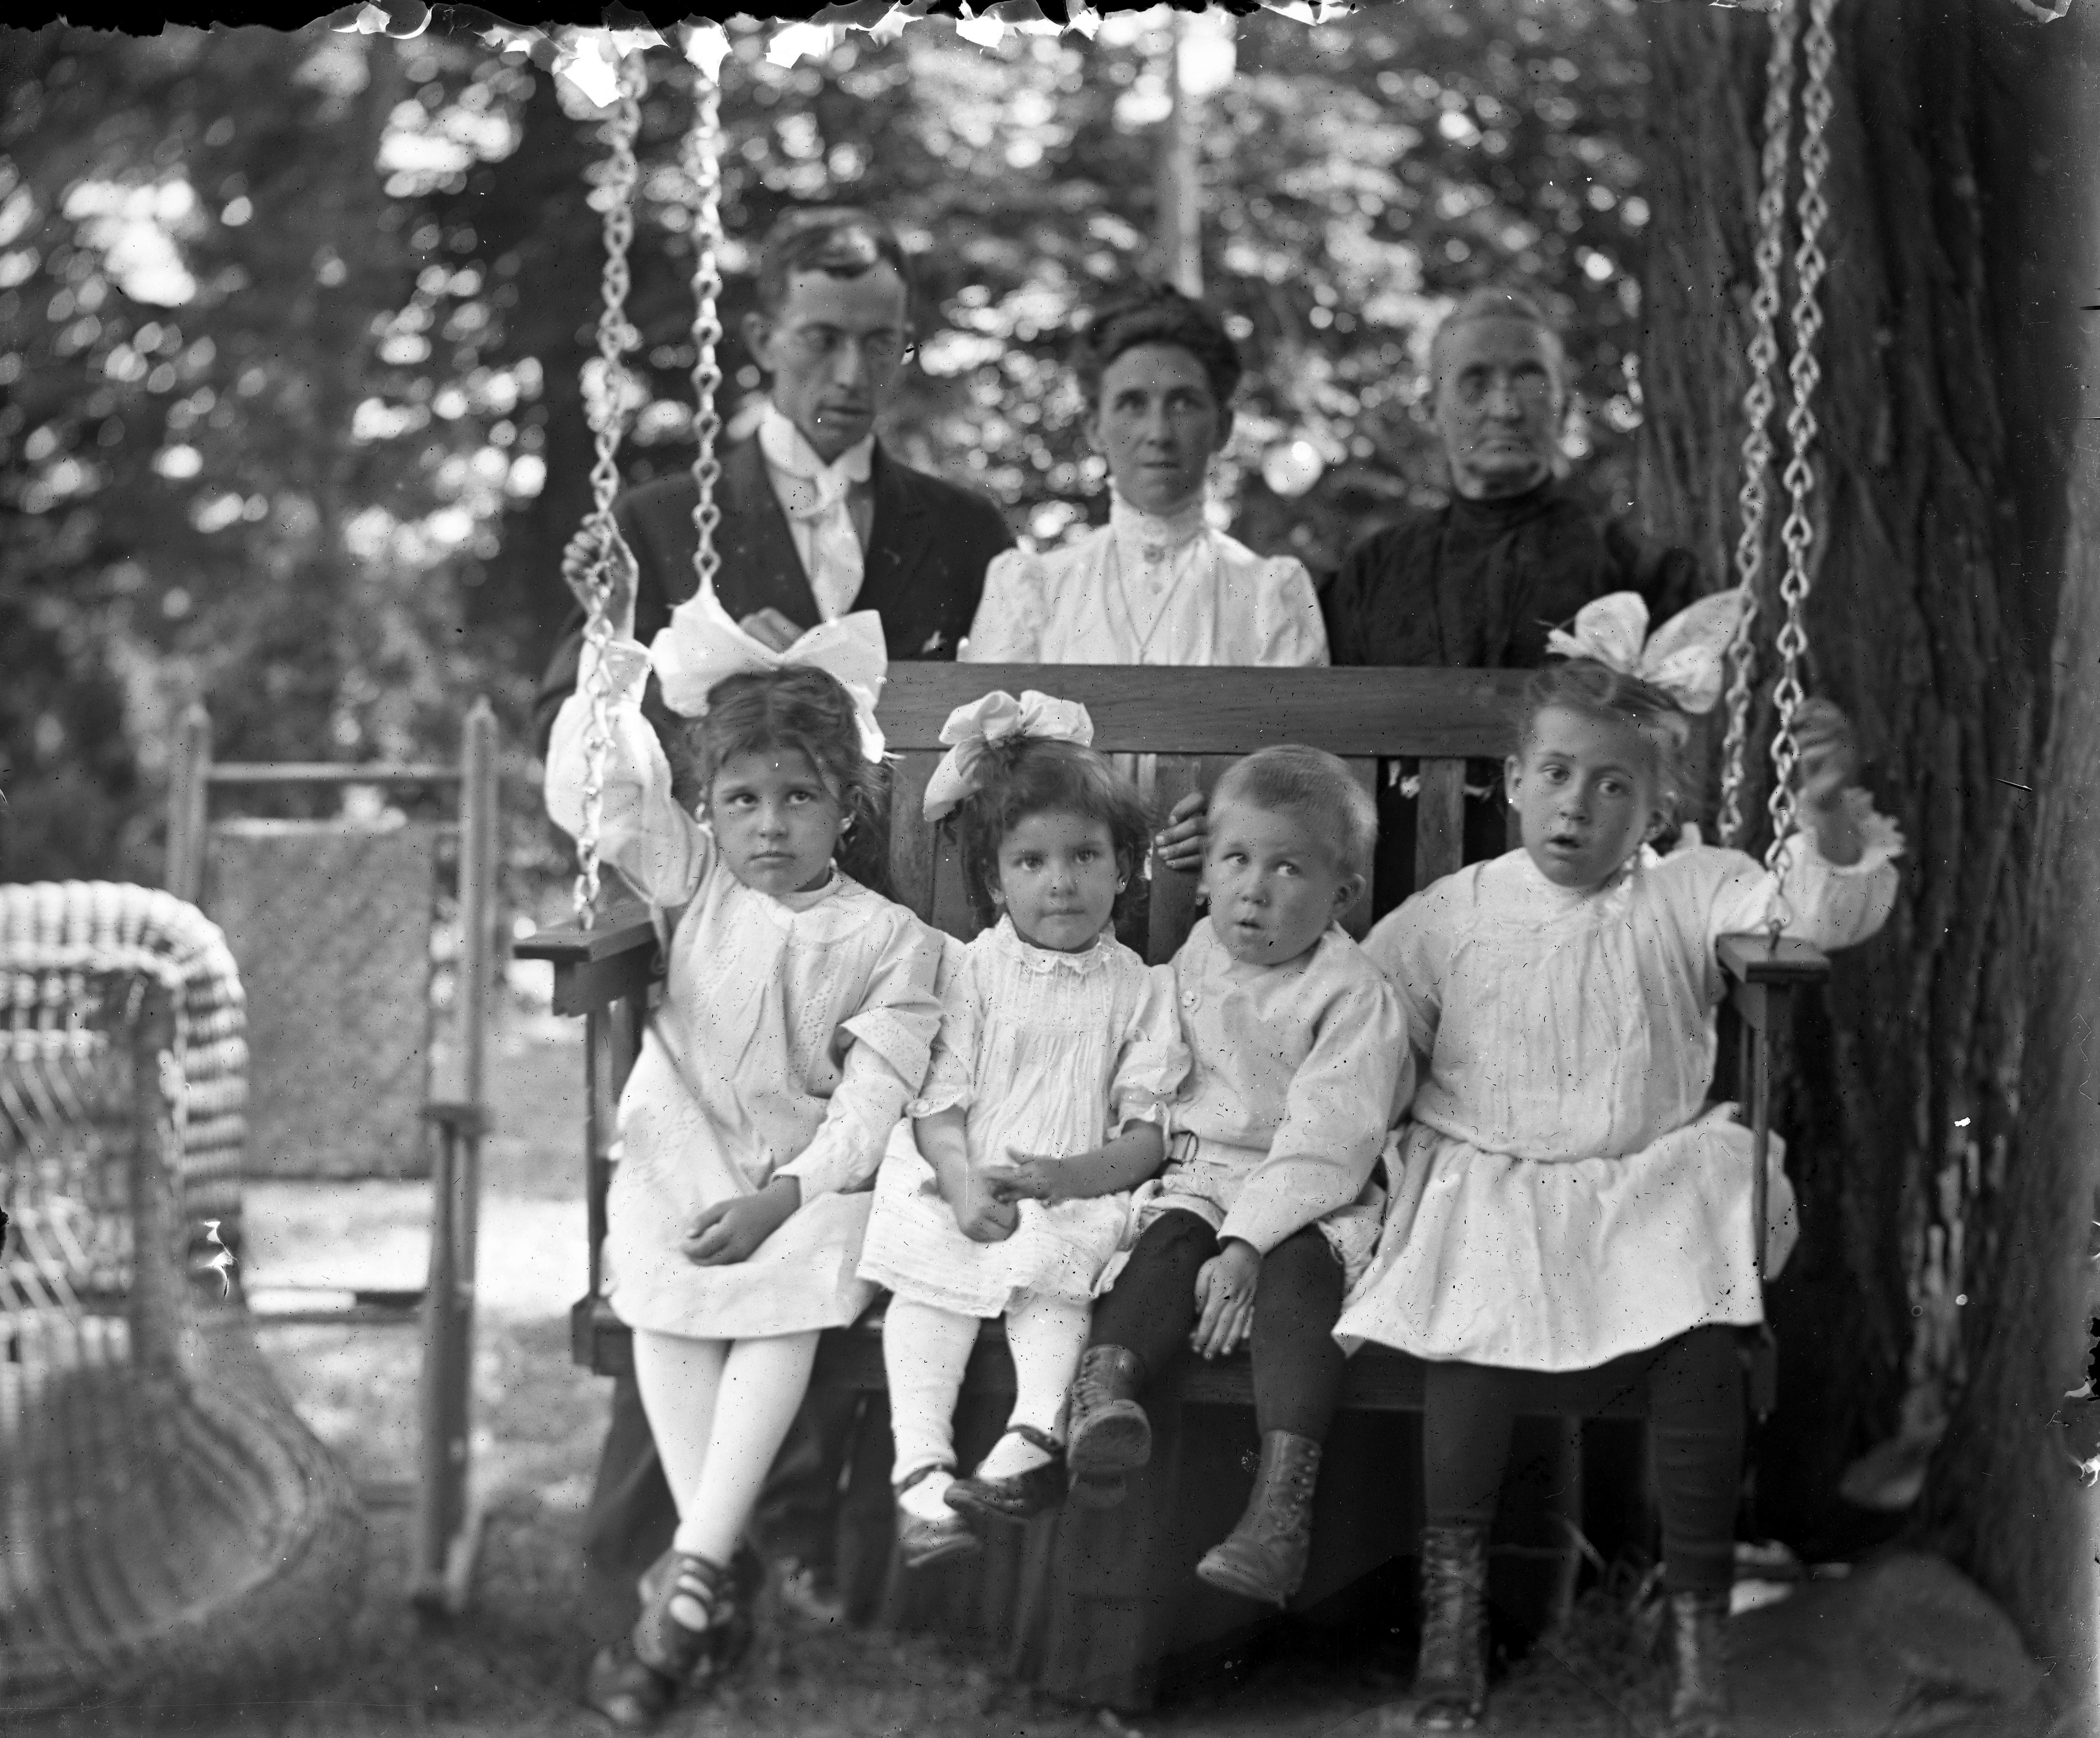
[[[193,907],[0,886],[0,1723],[254,1694],[357,1608],[357,1499],[212,1230],[244,1100],[239,978]]]

